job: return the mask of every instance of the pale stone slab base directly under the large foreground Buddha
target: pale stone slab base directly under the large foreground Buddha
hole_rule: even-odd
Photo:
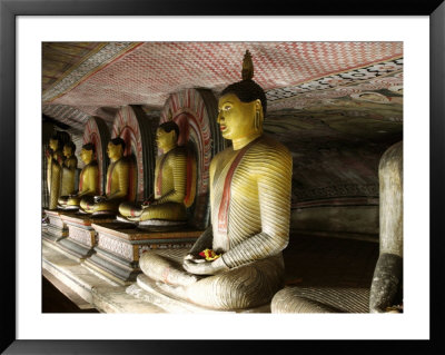
[[[237,310],[215,310],[200,307],[166,294],[152,279],[144,274],[138,275],[137,284],[127,287],[126,292],[169,313],[270,313],[270,305]]]

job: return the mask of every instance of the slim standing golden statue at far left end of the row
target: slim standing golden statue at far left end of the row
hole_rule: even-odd
[[[63,164],[63,154],[61,141],[57,135],[49,140],[47,155],[47,185],[49,193],[49,209],[57,208],[57,201],[61,193],[61,169]]]

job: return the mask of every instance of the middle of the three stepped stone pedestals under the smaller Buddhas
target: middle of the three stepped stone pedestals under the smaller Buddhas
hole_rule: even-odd
[[[61,213],[60,217],[68,227],[68,236],[59,240],[59,246],[70,255],[85,259],[91,256],[97,245],[96,230],[92,223],[110,223],[113,218],[91,218],[91,215],[79,213]]]

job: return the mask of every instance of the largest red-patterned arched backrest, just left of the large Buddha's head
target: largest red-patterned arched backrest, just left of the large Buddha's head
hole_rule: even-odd
[[[210,160],[225,148],[217,114],[217,100],[208,89],[185,89],[170,95],[160,114],[159,124],[174,120],[180,129],[178,145],[188,146],[196,156],[196,197],[189,223],[197,228],[209,224]]]

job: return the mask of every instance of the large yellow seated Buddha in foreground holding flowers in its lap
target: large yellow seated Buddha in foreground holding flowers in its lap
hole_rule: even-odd
[[[263,134],[267,102],[251,80],[253,69],[247,51],[243,80],[228,86],[218,101],[217,122],[233,145],[210,162],[211,225],[182,263],[156,250],[139,259],[164,293],[212,309],[265,305],[284,283],[291,156]]]

